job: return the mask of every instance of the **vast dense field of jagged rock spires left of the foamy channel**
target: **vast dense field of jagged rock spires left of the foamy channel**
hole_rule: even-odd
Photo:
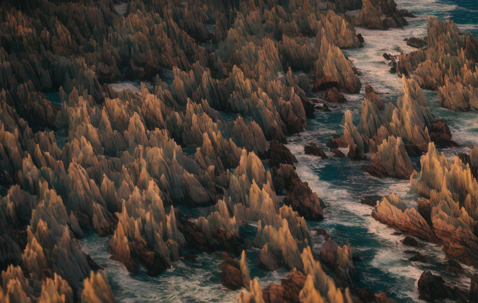
[[[241,302],[359,296],[350,245],[328,239],[315,253],[334,278],[314,260],[305,220],[321,220],[325,204],[284,143],[313,116],[306,90],[359,91],[341,48],[363,42],[343,14],[361,6],[130,0],[119,15],[113,0],[2,3],[0,301],[114,302],[78,244],[87,231],[151,276],[189,258],[186,247],[241,255],[223,253],[222,266],[226,286],[247,289]],[[374,18],[401,26],[392,6]],[[145,83],[109,85],[122,80]],[[240,226],[254,222],[247,239]],[[259,267],[289,278],[262,290],[250,247]]]

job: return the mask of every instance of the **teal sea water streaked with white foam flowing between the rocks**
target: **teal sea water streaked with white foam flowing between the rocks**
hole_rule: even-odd
[[[463,31],[478,34],[477,0],[395,0],[400,8],[407,8],[417,18],[409,18],[409,25],[403,29],[357,31],[365,39],[363,48],[347,50],[346,54],[360,70],[360,80],[369,83],[382,94],[383,102],[396,102],[402,94],[401,80],[389,72],[382,54],[398,54],[413,49],[408,47],[405,38],[412,35],[425,36],[427,15],[440,19],[453,19]],[[166,75],[171,80],[171,73]],[[123,85],[123,86],[121,86]],[[116,89],[136,89],[137,83],[121,83]],[[132,87],[132,88],[131,88]],[[425,91],[433,115],[445,120],[453,134],[453,140],[460,148],[444,150],[454,156],[478,145],[478,114],[452,112],[440,108],[436,92]],[[325,228],[339,244],[350,242],[354,255],[359,257],[355,266],[360,272],[360,287],[369,287],[373,292],[387,291],[398,302],[420,302],[417,281],[424,270],[440,273],[445,280],[464,288],[469,280],[452,276],[443,271],[441,263],[445,255],[439,247],[422,242],[414,249],[426,256],[430,262],[423,264],[411,262],[408,249],[400,243],[403,235],[378,223],[371,216],[372,208],[359,203],[363,196],[399,194],[409,206],[416,205],[414,196],[408,193],[409,181],[392,178],[375,178],[364,172],[365,161],[349,161],[347,158],[320,160],[305,155],[303,146],[316,143],[325,148],[327,141],[335,134],[342,133],[343,114],[350,109],[356,123],[360,116],[360,94],[346,94],[348,103],[332,108],[332,112],[315,114],[308,120],[304,133],[288,139],[289,149],[297,156],[296,165],[300,177],[323,198],[327,204],[325,220],[308,222],[309,228]],[[327,149],[326,149],[327,150]],[[412,159],[417,161],[418,158]],[[201,213],[201,210],[195,210]],[[255,227],[247,226],[251,235]],[[162,275],[151,278],[145,271],[129,274],[119,262],[110,259],[109,238],[101,238],[93,233],[80,240],[82,248],[103,266],[116,297],[120,302],[236,302],[238,292],[225,289],[220,284],[219,254],[199,254],[197,262],[180,261]],[[196,252],[197,253],[197,252]],[[257,250],[247,252],[250,260],[255,260]],[[252,263],[252,262],[251,262]],[[267,281],[279,281],[287,274],[285,270],[262,272],[251,266],[251,276],[257,276],[263,286]]]

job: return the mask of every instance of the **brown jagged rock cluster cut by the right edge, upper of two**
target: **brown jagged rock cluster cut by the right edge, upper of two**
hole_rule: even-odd
[[[417,51],[400,54],[398,75],[436,90],[440,105],[451,110],[478,110],[478,39],[463,34],[452,20],[428,18],[426,41],[407,40]],[[423,46],[425,46],[422,48]]]

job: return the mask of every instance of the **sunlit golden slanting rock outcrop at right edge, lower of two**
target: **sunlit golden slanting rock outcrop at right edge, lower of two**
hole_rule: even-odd
[[[413,172],[410,177],[411,190],[418,194],[418,207],[408,208],[391,194],[377,203],[372,216],[409,235],[440,243],[449,258],[477,264],[478,183],[470,166],[459,157],[449,161],[433,143],[420,163],[420,173]]]

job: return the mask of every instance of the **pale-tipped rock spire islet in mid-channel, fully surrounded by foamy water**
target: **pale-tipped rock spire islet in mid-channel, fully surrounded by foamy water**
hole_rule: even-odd
[[[380,95],[366,85],[361,103],[361,116],[355,126],[350,110],[344,114],[344,134],[331,139],[332,149],[348,148],[351,159],[365,159],[370,153],[366,171],[378,177],[408,179],[413,172],[409,155],[419,155],[430,142],[442,147],[456,145],[445,122],[435,119],[418,83],[402,76],[404,95],[383,105]]]

